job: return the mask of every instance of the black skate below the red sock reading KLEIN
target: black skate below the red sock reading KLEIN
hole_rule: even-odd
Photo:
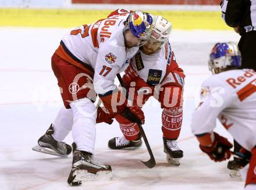
[[[166,153],[167,162],[174,165],[180,165],[180,159],[183,157],[183,151],[178,147],[176,140],[168,140],[163,137],[163,152]]]

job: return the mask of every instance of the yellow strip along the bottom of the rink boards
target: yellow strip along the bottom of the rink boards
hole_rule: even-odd
[[[147,11],[147,10],[146,10]],[[0,9],[0,26],[74,28],[105,18],[111,10],[88,9]],[[231,30],[220,11],[148,10],[172,22],[174,29]]]

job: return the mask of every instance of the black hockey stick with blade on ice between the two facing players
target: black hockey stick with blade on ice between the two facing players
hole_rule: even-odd
[[[126,88],[125,87],[125,83],[123,83],[123,79],[122,79],[122,77],[120,76],[120,74],[117,74],[117,76],[118,76],[118,81],[120,82],[120,85],[122,86],[122,87],[124,87],[124,88]],[[128,94],[126,94],[126,97],[128,97]],[[130,115],[133,115],[133,113],[129,113]],[[136,117],[136,116],[135,116]],[[136,117],[137,118],[137,117]],[[149,167],[149,168],[152,168],[152,167],[154,167],[155,165],[156,165],[156,163],[155,163],[155,158],[154,158],[154,155],[153,155],[153,153],[152,153],[152,150],[151,150],[151,148],[150,148],[150,144],[148,143],[148,139],[147,139],[147,137],[146,137],[146,135],[145,135],[145,132],[144,132],[144,130],[143,130],[143,127],[141,126],[141,123],[138,123],[137,122],[137,125],[138,125],[138,127],[139,127],[139,129],[140,129],[140,134],[141,134],[141,136],[143,137],[143,140],[144,140],[144,142],[145,142],[145,145],[146,145],[146,147],[147,147],[147,149],[148,149],[148,153],[150,154],[150,159],[148,160],[148,161],[142,161],[142,160],[140,160],[142,163],[144,163],[144,165],[146,165],[147,167]]]

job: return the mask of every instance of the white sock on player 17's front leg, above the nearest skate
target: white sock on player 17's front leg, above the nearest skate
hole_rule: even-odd
[[[88,98],[70,103],[73,111],[73,140],[80,151],[94,153],[97,110]]]

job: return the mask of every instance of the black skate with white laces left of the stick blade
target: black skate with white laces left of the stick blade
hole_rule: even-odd
[[[141,137],[136,141],[129,141],[122,137],[114,137],[108,141],[108,147],[111,149],[137,148],[142,145]]]

